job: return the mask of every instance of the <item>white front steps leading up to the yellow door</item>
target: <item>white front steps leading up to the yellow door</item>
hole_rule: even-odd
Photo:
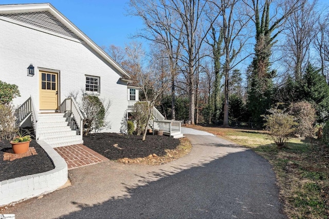
[[[51,147],[83,144],[72,113],[39,113],[38,138]]]

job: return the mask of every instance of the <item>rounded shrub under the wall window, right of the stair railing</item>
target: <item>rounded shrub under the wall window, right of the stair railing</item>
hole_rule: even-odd
[[[85,117],[83,120],[84,135],[104,126],[105,108],[98,96],[84,94],[81,108]]]

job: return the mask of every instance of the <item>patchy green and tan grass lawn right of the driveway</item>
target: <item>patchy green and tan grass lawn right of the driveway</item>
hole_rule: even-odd
[[[329,218],[329,147],[291,138],[278,150],[266,131],[189,126],[251,148],[277,174],[280,197],[289,218]]]

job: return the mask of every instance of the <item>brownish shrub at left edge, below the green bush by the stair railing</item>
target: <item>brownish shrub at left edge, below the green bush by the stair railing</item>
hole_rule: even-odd
[[[0,139],[11,140],[17,131],[16,117],[11,104],[0,104]]]

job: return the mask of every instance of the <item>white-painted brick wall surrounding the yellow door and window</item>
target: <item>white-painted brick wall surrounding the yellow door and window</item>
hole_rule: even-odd
[[[103,132],[120,132],[127,109],[125,83],[121,75],[90,50],[86,44],[0,20],[0,81],[19,86],[21,97],[13,100],[15,106],[32,95],[39,110],[40,68],[59,70],[60,103],[70,92],[85,88],[85,75],[100,77],[100,98],[111,100],[106,122],[111,125]],[[27,67],[34,66],[34,76],[27,76]],[[79,95],[81,97],[81,95]],[[80,98],[78,98],[78,102]]]

